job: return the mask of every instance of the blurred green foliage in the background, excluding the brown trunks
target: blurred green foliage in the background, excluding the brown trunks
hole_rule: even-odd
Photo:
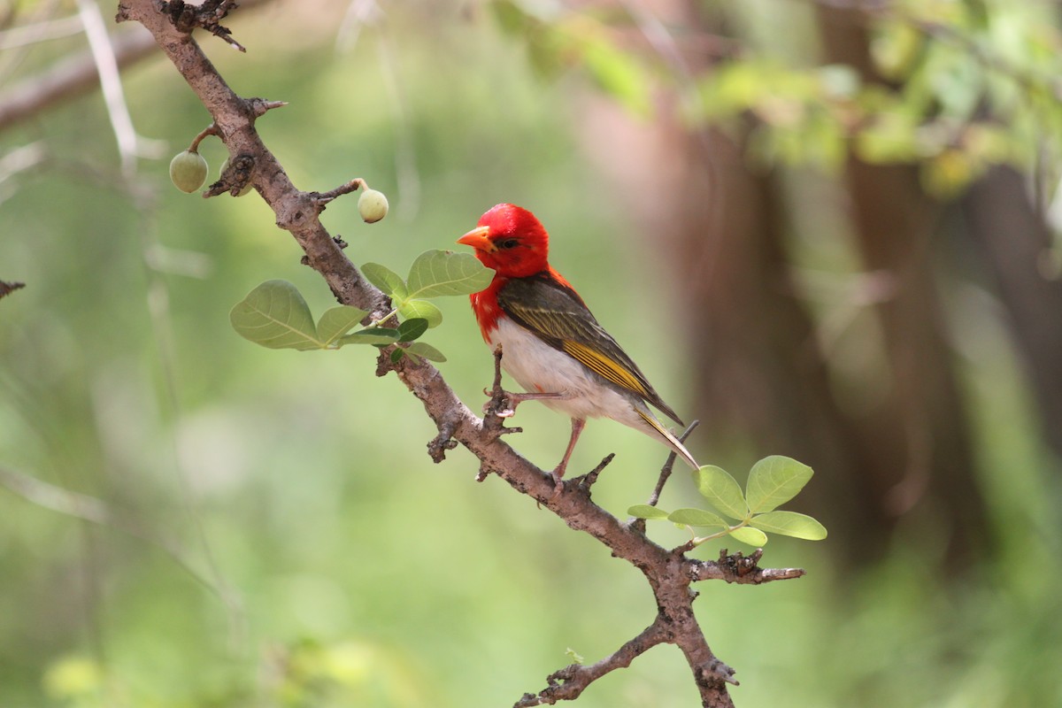
[[[582,70],[639,111],[649,76],[664,72],[619,51],[601,18],[536,17],[532,32],[513,24],[530,16],[523,3],[508,3],[506,34],[478,5],[446,5],[389,4],[343,51],[348,3],[325,0],[235,15],[246,55],[202,41],[238,92],[289,102],[258,129],[296,186],[361,176],[389,195],[391,215],[373,226],[353,197],[324,215],[356,262],[401,273],[493,204],[528,206],[554,236],[553,262],[683,410],[683,361],[696,353],[658,346],[681,324],[660,316],[635,275],[656,273],[654,246],[630,232],[629,195],[605,190],[570,129]],[[789,5],[749,6],[777,17]],[[898,4],[875,25],[875,57],[907,80],[904,93],[864,87],[845,67],[793,66],[780,42],[776,56],[698,77],[689,120],[754,111],[764,159],[835,169],[852,145],[869,160],[918,160],[938,193],[994,160],[1052,171],[1058,144],[1040,137],[1057,137],[1062,116],[1054,12]],[[541,41],[558,50],[536,50],[534,33],[554,31]],[[83,45],[39,45],[5,63],[3,79]],[[549,82],[534,70],[544,62]],[[137,67],[125,91],[138,129],[166,143],[132,183],[99,96],[0,135],[0,154],[44,151],[0,182],[0,279],[28,283],[0,300],[0,467],[102,500],[139,532],[0,490],[0,705],[509,705],[575,652],[594,661],[648,625],[648,588],[593,539],[495,479],[475,484],[463,450],[429,463],[435,431],[401,385],[374,376],[375,349],[270,351],[232,331],[229,308],[263,280],[290,280],[314,311],[332,298],[256,195],[204,201],[169,185],[169,158],[209,122],[173,68]],[[1003,118],[977,120],[983,100]],[[207,140],[201,153],[215,174],[223,148]],[[620,277],[633,284],[617,288]],[[463,298],[439,306],[441,370],[475,408],[490,352]],[[964,335],[974,330],[982,355],[965,387],[995,559],[956,586],[938,570],[931,528],[902,528],[892,556],[857,576],[830,566],[828,540],[773,541],[765,564],[809,575],[699,588],[709,643],[742,681],[739,705],[1062,701],[1057,461],[1005,334]],[[519,416],[526,432],[511,442],[548,467],[567,421],[533,407]],[[648,495],[663,456],[605,421],[588,426],[572,464],[609,451],[619,457],[595,498],[621,514]],[[696,497],[676,476],[664,503]],[[681,656],[661,647],[579,705],[696,701]]]

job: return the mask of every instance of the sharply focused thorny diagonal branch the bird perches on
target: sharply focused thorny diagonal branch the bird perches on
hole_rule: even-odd
[[[230,3],[219,2],[204,6],[206,4],[218,11],[227,11],[230,6]],[[167,6],[173,7],[174,3],[167,3]],[[172,13],[164,13],[155,0],[124,0],[119,4],[118,20],[138,21],[152,33],[210,113],[229,155],[251,161],[251,184],[273,209],[277,226],[291,232],[306,253],[305,262],[321,274],[336,298],[344,305],[366,310],[369,318],[378,320],[387,314],[388,297],[361,276],[320,221],[324,204],[354,191],[349,189],[353,183],[331,192],[299,191],[255,131],[255,119],[264,113],[261,107],[270,102],[242,99],[234,93],[192,40],[188,29],[175,27]],[[496,366],[497,362],[496,359]],[[682,651],[703,706],[733,706],[726,684],[736,683],[734,671],[708,647],[693,615],[697,593],[690,585],[705,580],[757,585],[798,577],[804,571],[760,569],[758,551],[751,556],[724,555],[719,562],[691,559],[681,552],[669,551],[649,539],[634,523],[624,523],[595,504],[587,485],[569,482],[556,494],[551,474],[529,463],[501,439],[503,432],[512,429],[502,428],[496,415],[487,415],[485,421],[474,415],[439,370],[426,361],[413,362],[407,357],[391,363],[384,351],[377,372],[381,375],[394,372],[438,426],[439,435],[428,446],[432,460],[439,462],[446,450],[456,444],[463,445],[479,459],[481,476],[485,471],[496,473],[513,488],[556,514],[571,529],[594,536],[613,555],[641,571],[652,589],[657,612],[645,632],[598,663],[567,667],[552,674],[547,679],[548,688],[537,695],[524,696],[517,706],[573,698],[596,678],[628,666],[646,650],[663,642],[673,643]],[[498,410],[497,407],[503,403],[500,374],[496,375],[494,383],[490,405]]]

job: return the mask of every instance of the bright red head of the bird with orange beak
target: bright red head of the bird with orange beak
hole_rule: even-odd
[[[549,267],[549,235],[533,213],[512,204],[492,207],[458,243],[476,249],[483,265],[507,278],[526,278]]]

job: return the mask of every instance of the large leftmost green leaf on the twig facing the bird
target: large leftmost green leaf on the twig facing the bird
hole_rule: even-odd
[[[228,313],[233,329],[270,349],[321,349],[313,315],[303,294],[287,280],[267,280]]]

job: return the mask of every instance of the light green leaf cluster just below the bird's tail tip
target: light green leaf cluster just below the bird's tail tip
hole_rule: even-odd
[[[627,513],[640,519],[671,521],[689,529],[690,533],[695,528],[715,530],[706,536],[695,534],[693,546],[727,535],[742,543],[763,546],[769,533],[822,540],[826,537],[826,529],[816,519],[796,512],[776,511],[804,488],[811,474],[807,465],[791,457],[771,455],[753,465],[742,493],[737,481],[724,469],[705,465],[693,472],[693,480],[698,491],[718,514],[703,508],[667,512],[649,504],[635,504]]]

